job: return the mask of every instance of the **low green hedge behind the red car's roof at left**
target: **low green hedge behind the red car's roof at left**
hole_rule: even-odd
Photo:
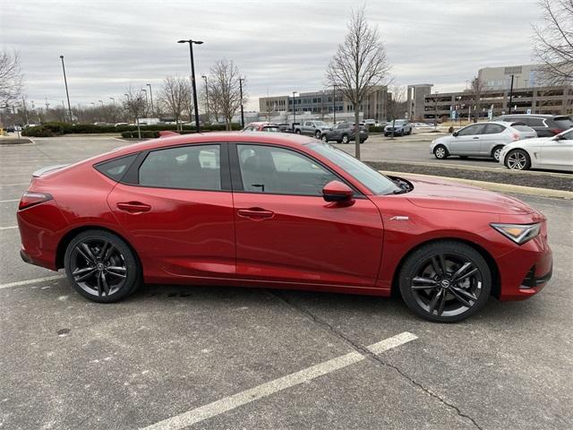
[[[233,123],[231,125],[233,130],[241,130],[241,125]],[[177,130],[176,125],[141,125],[141,132],[160,132],[163,130]],[[184,125],[183,131],[192,132],[195,130],[193,125]],[[225,130],[225,125],[201,125],[201,130],[209,131],[222,131]],[[93,125],[93,124],[69,124],[69,123],[45,123],[28,127],[22,131],[23,136],[30,137],[51,137],[60,136],[62,134],[81,134],[81,133],[123,133],[123,132],[137,132],[137,125]],[[137,133],[136,133],[137,134]]]

